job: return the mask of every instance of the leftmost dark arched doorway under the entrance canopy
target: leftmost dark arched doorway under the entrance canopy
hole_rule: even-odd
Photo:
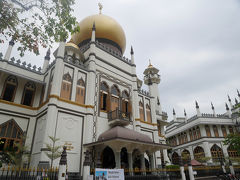
[[[114,152],[110,147],[106,147],[102,153],[102,167],[107,169],[113,169],[116,167]]]

